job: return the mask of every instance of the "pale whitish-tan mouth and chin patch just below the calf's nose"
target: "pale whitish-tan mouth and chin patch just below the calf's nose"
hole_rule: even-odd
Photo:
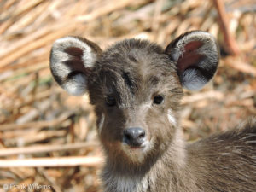
[[[151,148],[151,145],[149,141],[145,141],[143,148],[131,148],[129,145],[122,143],[121,148],[133,162],[141,163],[148,153],[148,150]]]

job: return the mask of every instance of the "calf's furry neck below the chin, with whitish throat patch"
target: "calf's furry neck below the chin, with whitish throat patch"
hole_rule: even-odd
[[[182,132],[177,131],[172,143],[162,153],[148,157],[142,165],[127,164],[122,157],[113,161],[108,158],[102,180],[106,191],[144,192],[159,189],[157,183],[163,183],[165,177],[180,182],[186,167],[186,151]],[[175,183],[176,185],[177,183]],[[170,181],[164,184],[170,185]],[[174,187],[173,189],[177,189]],[[153,190],[156,191],[156,190]]]

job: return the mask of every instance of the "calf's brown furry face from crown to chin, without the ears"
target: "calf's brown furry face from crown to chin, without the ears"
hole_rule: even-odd
[[[182,86],[156,44],[125,40],[108,49],[90,74],[101,141],[111,156],[134,162],[172,141]]]

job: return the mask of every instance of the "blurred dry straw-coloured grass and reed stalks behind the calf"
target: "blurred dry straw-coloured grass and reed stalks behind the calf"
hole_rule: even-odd
[[[49,72],[50,46],[66,35],[89,38],[105,49],[124,38],[166,46],[189,30],[211,32],[223,57],[211,84],[186,91],[181,112],[186,139],[255,115],[256,4],[224,3],[226,12],[220,13],[228,37],[210,0],[0,1],[0,192],[101,191],[102,150],[88,98],[67,96]],[[235,46],[233,55],[226,38]]]

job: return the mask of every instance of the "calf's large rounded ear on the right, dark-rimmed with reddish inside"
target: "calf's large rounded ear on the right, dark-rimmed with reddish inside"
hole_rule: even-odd
[[[218,44],[207,32],[184,33],[166,47],[166,54],[176,63],[179,79],[189,90],[200,90],[218,68]]]

